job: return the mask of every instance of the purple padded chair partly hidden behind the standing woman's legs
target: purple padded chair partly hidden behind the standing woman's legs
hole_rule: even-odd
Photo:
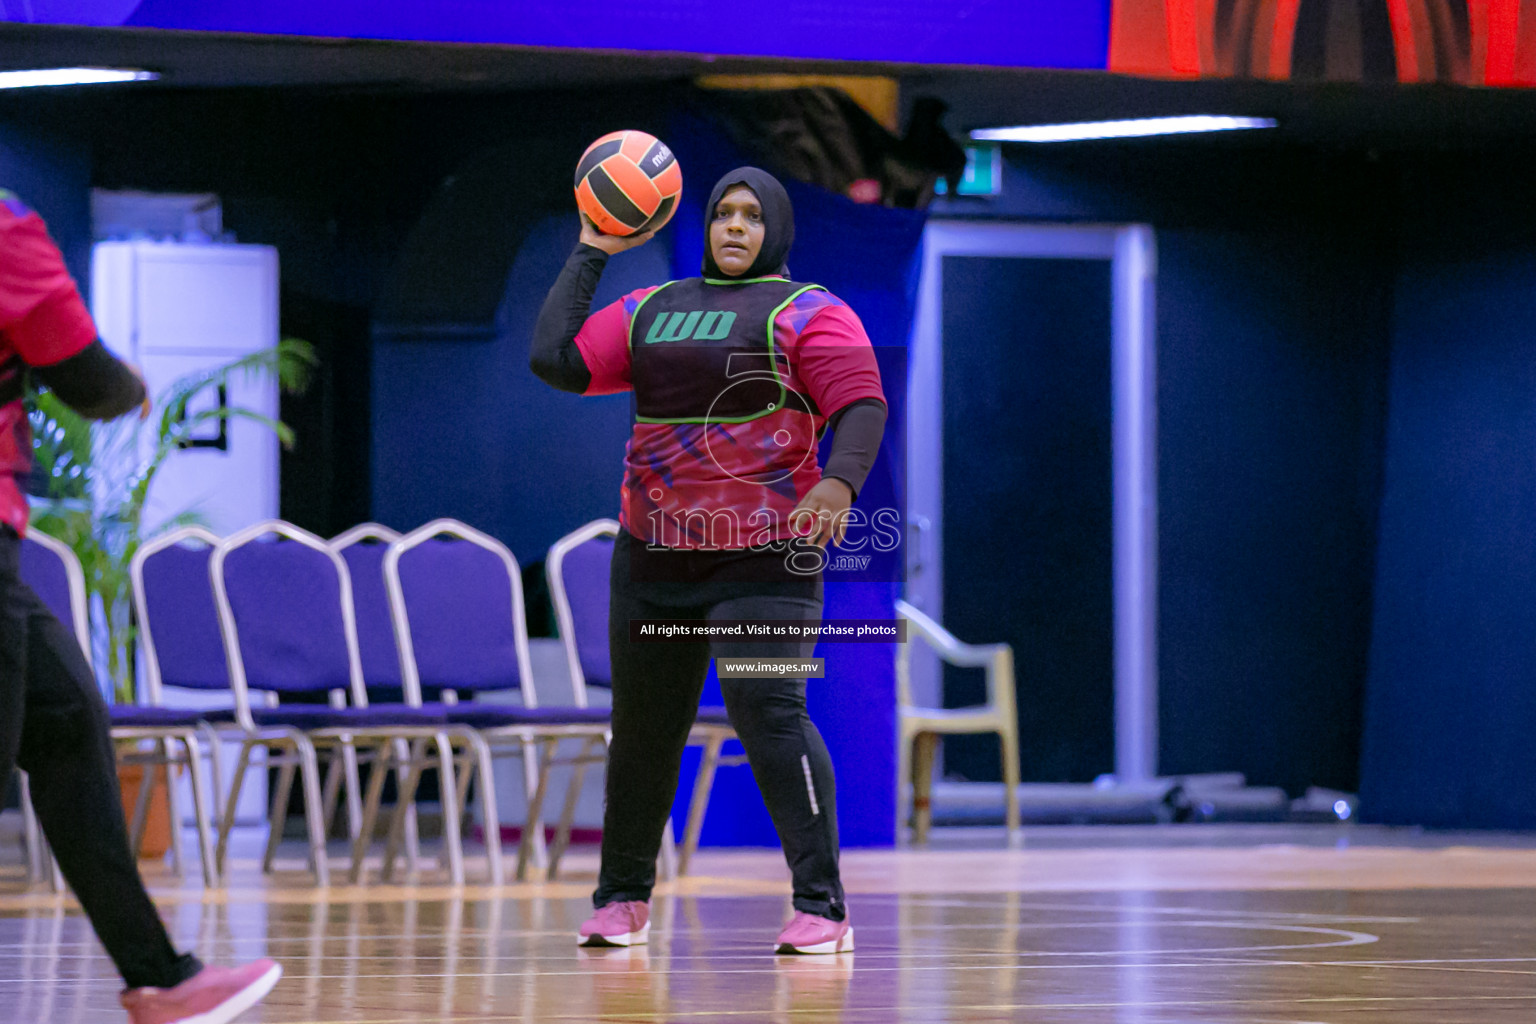
[[[550,600],[559,623],[561,640],[565,645],[565,663],[570,668],[571,688],[576,702],[587,706],[587,686],[613,686],[608,660],[608,573],[613,562],[613,539],[619,536],[619,524],[613,519],[594,519],[573,530],[550,547],[544,560],[544,573],[550,583]],[[710,791],[714,788],[714,772],[720,765],[745,765],[743,755],[720,755],[720,748],[736,738],[736,729],[725,708],[700,708],[688,732],[690,746],[702,746],[699,774],[694,777],[693,797],[688,801],[688,824],[684,829],[682,852],[677,855],[676,872],[688,874],[688,864],[699,849],[703,831],[703,814],[710,806]],[[571,789],[567,791],[567,808],[574,812],[576,791],[581,788],[582,768],[576,769]],[[670,827],[668,821],[668,827]],[[559,860],[559,849],[551,861]],[[668,854],[662,847],[664,857]],[[551,869],[553,874],[553,869]]]

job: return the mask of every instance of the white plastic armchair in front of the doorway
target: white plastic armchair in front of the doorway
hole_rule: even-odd
[[[995,732],[1003,746],[1003,788],[1008,834],[1018,831],[1018,712],[1014,692],[1014,648],[1006,643],[962,643],[952,633],[906,603],[895,614],[908,623],[908,643],[895,654],[897,794],[912,785],[912,841],[926,843],[932,824],[934,752],[940,737]],[[920,708],[912,703],[911,642],[922,639],[942,660],[986,671],[986,703],[972,708]],[[897,800],[900,815],[902,801]],[[897,832],[902,821],[897,820]]]

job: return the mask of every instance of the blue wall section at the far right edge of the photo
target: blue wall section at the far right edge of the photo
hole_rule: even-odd
[[[1528,164],[1412,173],[1361,808],[1536,827],[1536,218]]]

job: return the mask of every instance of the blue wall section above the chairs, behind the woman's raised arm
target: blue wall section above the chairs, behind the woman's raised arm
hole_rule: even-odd
[[[630,398],[556,391],[528,372],[533,321],[576,246],[573,212],[524,236],[493,341],[379,341],[373,348],[373,513],[410,530],[453,516],[522,563],[584,522],[616,516]],[[610,261],[593,309],[665,281],[668,238]],[[435,424],[430,430],[424,425]]]

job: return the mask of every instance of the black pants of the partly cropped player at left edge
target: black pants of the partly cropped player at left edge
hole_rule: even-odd
[[[75,637],[22,582],[22,540],[0,528],[0,794],[12,765],[58,869],[129,989],[181,984],[177,955],[127,849],[106,705]]]

